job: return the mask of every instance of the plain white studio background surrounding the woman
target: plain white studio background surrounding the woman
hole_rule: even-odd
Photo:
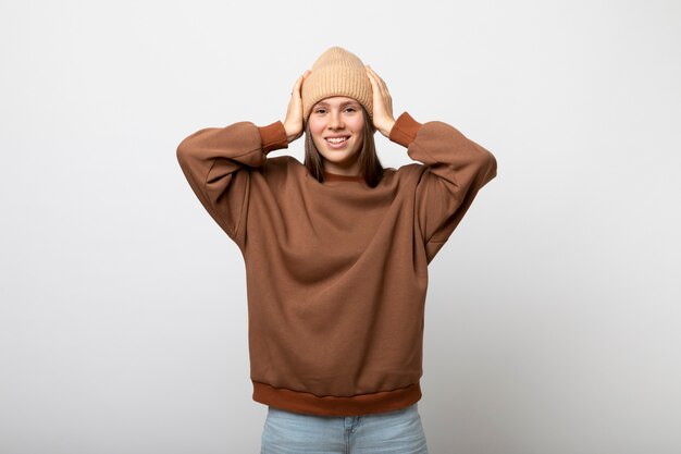
[[[679,42],[674,1],[2,0],[0,452],[258,452],[243,259],[175,150],[331,46],[498,161],[430,267],[431,453],[681,452]]]

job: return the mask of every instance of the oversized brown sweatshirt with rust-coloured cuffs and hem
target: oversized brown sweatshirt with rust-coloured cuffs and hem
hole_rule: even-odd
[[[389,139],[410,163],[376,187],[290,156],[281,122],[238,122],[185,138],[177,159],[246,265],[253,400],[327,416],[391,412],[421,398],[428,263],[494,156],[453,126],[407,112]]]

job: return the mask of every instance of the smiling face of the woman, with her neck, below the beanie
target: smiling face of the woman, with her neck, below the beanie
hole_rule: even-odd
[[[342,175],[357,175],[357,158],[364,132],[361,105],[344,96],[325,98],[312,107],[308,122],[324,169]]]

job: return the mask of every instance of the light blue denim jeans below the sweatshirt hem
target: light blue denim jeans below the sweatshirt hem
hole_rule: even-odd
[[[418,403],[364,416],[313,416],[268,407],[260,454],[428,454]]]

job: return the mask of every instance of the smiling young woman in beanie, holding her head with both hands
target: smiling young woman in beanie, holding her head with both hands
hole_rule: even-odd
[[[375,131],[420,163],[384,169]],[[268,158],[304,133],[305,163]],[[494,156],[446,123],[395,120],[383,79],[333,47],[297,79],[284,122],[198,131],[177,158],[245,260],[262,452],[425,453],[428,265]]]

